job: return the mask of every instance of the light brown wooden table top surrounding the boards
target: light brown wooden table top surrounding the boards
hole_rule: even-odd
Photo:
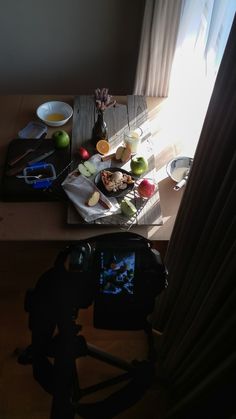
[[[127,97],[117,97],[119,104],[126,104]],[[158,99],[146,98],[148,113],[153,110]],[[31,120],[37,120],[37,107],[48,100],[62,100],[74,106],[75,97],[68,95],[7,95],[0,96],[1,175],[10,141],[17,138],[20,129]],[[63,126],[72,138],[75,136],[73,119]],[[58,128],[48,127],[47,138]],[[158,141],[152,136],[152,141]],[[167,162],[163,162],[165,164]],[[173,191],[173,182],[167,176],[158,182],[163,225],[135,225],[131,231],[151,240],[169,240],[182,191]],[[68,204],[65,202],[0,202],[0,240],[16,241],[74,241],[97,234],[120,231],[119,225],[88,225],[68,223]]]

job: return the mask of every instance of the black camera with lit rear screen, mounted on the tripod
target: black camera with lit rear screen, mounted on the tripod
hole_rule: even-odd
[[[78,272],[78,281],[87,281],[83,289],[90,289],[94,327],[100,329],[144,328],[156,296],[167,287],[159,252],[134,233],[77,242],[70,247],[67,266],[69,272]]]

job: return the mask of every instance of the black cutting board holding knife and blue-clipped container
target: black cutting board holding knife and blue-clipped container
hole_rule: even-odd
[[[67,176],[66,170],[58,179],[54,180],[49,189],[33,189],[24,179],[18,179],[16,175],[8,176],[6,173],[11,168],[9,162],[19,155],[22,155],[28,149],[35,151],[28,154],[19,164],[27,165],[32,160],[43,153],[54,149],[52,139],[14,139],[10,142],[7,150],[4,173],[1,185],[1,198],[4,201],[57,201],[67,200],[66,195],[61,187],[61,183]],[[70,148],[56,149],[55,152],[43,160],[45,163],[51,163],[55,167],[56,175],[58,175],[70,162]],[[22,171],[21,173],[22,174]]]

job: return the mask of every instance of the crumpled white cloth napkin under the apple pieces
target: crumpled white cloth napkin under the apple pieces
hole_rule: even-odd
[[[101,156],[100,160],[101,160]],[[102,170],[105,167],[108,167],[109,163],[107,162],[99,162],[97,156],[93,156],[93,158],[90,159],[91,162],[95,164],[95,158],[96,158],[96,167],[99,170]],[[100,163],[100,164],[98,164]],[[74,204],[76,210],[81,215],[81,217],[87,222],[92,222],[98,218],[106,217],[108,215],[112,215],[115,213],[120,212],[120,206],[115,198],[107,198],[95,185],[93,181],[93,177],[86,178],[83,175],[74,176],[73,174],[69,174],[64,182],[62,183],[62,187],[65,190],[67,196],[70,198],[72,203]],[[91,180],[90,180],[91,179]],[[106,209],[104,206],[100,203],[93,207],[89,207],[86,202],[92,195],[92,193],[98,190],[101,195],[102,201],[106,203],[110,208]]]

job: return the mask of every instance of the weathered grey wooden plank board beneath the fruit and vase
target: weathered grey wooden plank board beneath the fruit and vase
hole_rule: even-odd
[[[112,149],[116,149],[118,145],[122,144],[124,130],[127,127],[134,129],[140,126],[142,128],[143,135],[140,154],[145,155],[149,163],[149,171],[145,176],[155,179],[155,158],[152,149],[145,97],[134,95],[127,96],[127,104],[117,104],[115,107],[107,109],[104,114],[104,119],[108,126],[108,141]],[[78,149],[80,145],[83,145],[92,153],[96,152],[91,141],[92,129],[95,121],[96,108],[93,96],[75,97],[72,129],[72,159],[75,160],[74,167],[78,164],[74,156],[76,149]],[[123,165],[122,168],[129,171],[130,162]],[[121,214],[117,214],[100,218],[94,223],[110,226],[119,225],[125,229],[130,228],[133,225],[162,225],[158,190],[156,190],[153,197],[148,200],[139,198],[135,189],[130,192],[128,197],[134,201],[138,209],[137,214],[134,217],[127,219]],[[68,208],[67,223],[72,225],[87,225],[72,204],[70,204]]]

